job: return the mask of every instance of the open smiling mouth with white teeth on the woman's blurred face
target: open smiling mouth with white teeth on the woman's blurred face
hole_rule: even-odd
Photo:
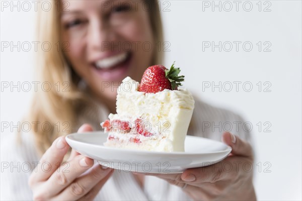
[[[120,67],[120,64],[123,64],[129,58],[130,54],[128,52],[122,52],[114,56],[100,59],[94,62],[93,65],[98,70],[110,71],[117,67]]]

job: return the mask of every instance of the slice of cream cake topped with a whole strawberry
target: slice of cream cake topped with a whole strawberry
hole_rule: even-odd
[[[141,83],[124,78],[117,91],[116,112],[101,123],[105,146],[149,151],[184,151],[194,99],[178,87],[184,76],[174,64],[148,67]]]

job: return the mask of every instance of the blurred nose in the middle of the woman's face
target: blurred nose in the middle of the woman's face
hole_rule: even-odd
[[[102,52],[110,51],[116,38],[110,26],[100,22],[100,20],[91,23],[88,37],[91,49]]]

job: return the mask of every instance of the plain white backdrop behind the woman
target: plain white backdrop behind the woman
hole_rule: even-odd
[[[185,86],[200,98],[213,105],[233,110],[253,125],[256,164],[255,188],[259,200],[301,200],[301,2],[300,1],[251,1],[243,7],[242,1],[236,11],[236,4],[220,2],[219,8],[206,8],[212,1],[170,1],[161,2],[165,41],[170,52],[165,64],[170,66],[176,60],[186,75]],[[224,3],[224,7],[223,7]],[[257,5],[258,3],[258,5]],[[219,4],[218,1],[215,2]],[[268,7],[268,8],[267,8]],[[270,12],[264,12],[267,8]],[[170,10],[170,11],[168,11]],[[1,12],[1,41],[34,41],[35,12],[10,8]],[[205,48],[203,42],[230,41],[229,46]],[[236,44],[240,41],[239,49]],[[251,51],[243,49],[244,42],[251,42]],[[257,43],[261,41],[259,51]],[[264,52],[264,42],[271,44]],[[167,44],[167,43],[166,43]],[[249,46],[246,46],[249,48]],[[34,51],[13,52],[9,48],[1,51],[1,81],[33,81]],[[202,88],[202,85],[233,83],[224,85],[221,92],[216,88]],[[241,81],[236,91],[234,81]],[[261,81],[262,88],[259,92]],[[251,82],[250,92],[244,82]],[[264,92],[264,82],[270,83],[270,92]],[[27,112],[32,91],[1,92],[1,122],[17,122]],[[259,122],[262,123],[259,132]],[[263,125],[271,126],[264,132]],[[7,130],[6,130],[7,131]],[[8,132],[4,132],[8,133]],[[3,138],[3,132],[1,134]],[[4,150],[2,150],[4,151]],[[261,163],[261,170],[259,166]],[[268,162],[268,163],[265,163]],[[266,165],[264,165],[264,163]],[[269,167],[268,164],[271,166]],[[271,172],[265,172],[264,169]]]

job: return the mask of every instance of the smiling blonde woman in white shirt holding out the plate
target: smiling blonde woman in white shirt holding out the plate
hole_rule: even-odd
[[[47,122],[51,129],[38,126],[34,135],[21,133],[22,144],[17,150],[11,146],[9,152],[19,157],[17,161],[39,162],[32,172],[5,174],[4,180],[13,185],[11,191],[5,190],[5,199],[256,199],[252,171],[243,168],[253,162],[252,148],[246,142],[249,134],[234,129],[236,135],[222,135],[201,125],[243,120],[197,98],[188,135],[222,137],[233,150],[218,164],[187,169],[182,174],[145,176],[105,169],[74,150],[69,154],[63,136],[84,123],[89,124],[79,132],[100,130],[99,123],[110,112],[115,113],[121,80],[125,76],[140,80],[147,66],[162,62],[162,52],[156,48],[156,43],[163,41],[162,27],[157,1],[51,4],[51,11],[39,14],[38,33],[39,41],[56,44],[56,48],[40,52],[37,73],[40,81],[51,83],[52,88],[36,94],[28,118],[29,122]],[[146,42],[152,44],[148,49]],[[232,170],[225,170],[224,164]]]

